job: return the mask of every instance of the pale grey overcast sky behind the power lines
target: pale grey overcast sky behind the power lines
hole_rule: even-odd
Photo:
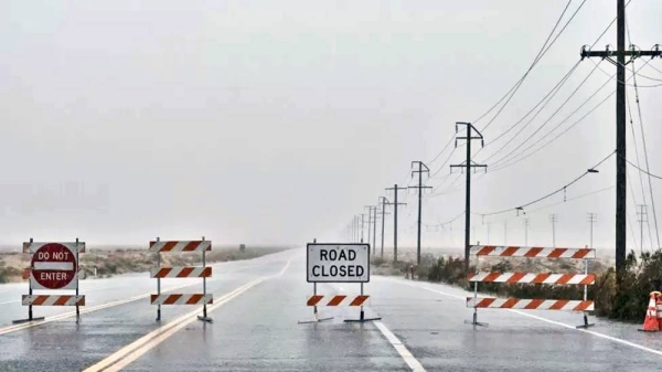
[[[579,3],[573,1],[565,20]],[[565,4],[3,1],[0,241],[345,238],[352,215],[376,203],[384,188],[414,184],[407,174],[412,160],[431,160],[452,136],[455,121],[477,119],[522,76]],[[662,2],[632,0],[628,10],[636,44],[649,50],[662,43]],[[615,17],[616,1],[586,2],[483,132],[487,146],[477,160],[510,138],[490,142],[567,73],[580,46],[591,44]],[[616,44],[613,28],[596,49],[607,43]],[[651,65],[662,70],[661,61]],[[579,64],[509,148],[538,128],[594,66],[590,61]],[[540,135],[587,99],[608,79],[606,73],[615,72],[606,62],[599,68],[604,72],[597,70]],[[640,73],[662,78],[648,66]],[[660,84],[641,77],[638,83]],[[556,132],[615,85],[609,83]],[[655,115],[661,93],[662,87],[639,89],[651,171],[656,174],[662,173],[662,129]],[[477,177],[473,210],[488,213],[526,203],[605,158],[615,149],[613,102],[608,99],[535,156]],[[477,126],[483,128],[488,119]],[[639,130],[637,118],[634,128]],[[452,163],[462,161],[463,150],[452,153]],[[433,171],[448,155],[429,164]],[[629,157],[636,160],[632,151]],[[568,188],[567,199],[612,187],[613,168],[611,158],[599,174]],[[444,179],[447,173],[446,166],[426,181],[433,187],[444,181],[438,191],[449,193],[426,195],[425,224],[448,221],[463,210],[463,181]],[[630,176],[642,203],[632,168]],[[645,187],[648,193],[648,182]],[[662,220],[659,180],[653,188]],[[558,214],[557,245],[587,244],[586,212],[597,212],[596,244],[612,245],[613,195],[610,189],[533,212],[563,201],[560,194],[531,206],[530,244],[552,243],[549,213]],[[628,196],[632,203],[630,191]],[[401,214],[401,244],[407,245],[415,238],[410,227],[416,199],[414,193],[403,199],[408,205]],[[647,200],[650,204],[648,194]],[[629,216],[639,232],[632,205]],[[504,221],[506,243],[523,244],[522,216],[514,213],[485,217],[490,243],[503,243]],[[487,224],[479,216],[474,222],[477,240],[487,242]],[[388,244],[391,228],[389,222]],[[424,245],[459,246],[461,230],[457,220],[452,232],[424,231]]]

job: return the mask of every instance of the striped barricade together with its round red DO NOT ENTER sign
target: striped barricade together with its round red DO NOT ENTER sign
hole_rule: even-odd
[[[85,253],[85,243],[36,243],[33,238],[23,243],[23,253],[30,254],[30,267],[23,269],[22,277],[29,280],[28,295],[23,295],[21,304],[28,306],[28,318],[14,320],[13,323],[43,320],[34,317],[33,306],[75,306],[76,323],[81,321],[81,306],[85,306],[85,296],[78,293],[81,266],[78,254]],[[34,291],[40,291],[35,294]],[[73,295],[47,295],[50,290],[72,290]]]

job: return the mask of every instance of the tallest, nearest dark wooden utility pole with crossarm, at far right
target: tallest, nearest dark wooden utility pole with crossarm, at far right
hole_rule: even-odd
[[[626,151],[626,56],[630,62],[641,56],[662,56],[660,46],[652,51],[640,51],[634,45],[626,51],[626,0],[616,1],[616,51],[589,51],[581,47],[581,59],[607,59],[616,65],[616,283],[621,283],[622,269],[626,265],[627,243],[627,151]],[[613,61],[616,56],[616,61]]]

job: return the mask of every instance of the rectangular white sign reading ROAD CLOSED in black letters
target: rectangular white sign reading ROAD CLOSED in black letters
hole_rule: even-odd
[[[370,281],[370,244],[310,243],[308,283]]]

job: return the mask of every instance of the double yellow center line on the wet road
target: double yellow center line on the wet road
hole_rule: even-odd
[[[236,288],[235,290],[231,291],[229,294],[224,295],[217,301],[215,301],[214,305],[209,307],[207,311],[211,312],[211,311],[220,308],[221,306],[229,302],[235,297],[238,297],[241,294],[247,291],[248,289],[263,283],[264,280],[282,275],[287,270],[289,265],[290,265],[290,261],[287,262],[287,264],[282,267],[282,269],[278,274],[276,274],[271,277],[257,278],[248,284],[241,286],[239,288]],[[197,319],[199,313],[200,313],[200,309],[196,309],[184,316],[181,316],[180,318],[167,323],[166,326],[163,326],[159,329],[156,329],[156,330],[147,333],[146,336],[141,337],[140,339],[121,348],[120,350],[116,351],[115,353],[110,354],[109,357],[99,361],[98,363],[85,369],[84,372],[119,371],[119,370],[121,370],[122,368],[125,368],[125,366],[129,365],[130,363],[132,363],[134,361],[136,361],[138,358],[145,355],[151,349],[158,347],[161,342],[166,341],[168,338],[170,338],[172,334],[177,333],[182,328],[186,327],[189,323],[195,321]]]

